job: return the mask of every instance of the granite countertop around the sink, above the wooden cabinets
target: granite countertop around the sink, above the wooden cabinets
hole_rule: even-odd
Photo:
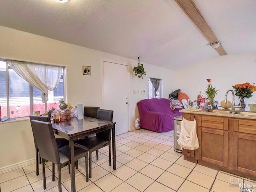
[[[190,113],[190,114],[200,114],[200,115],[212,115],[212,116],[222,116],[222,117],[229,117],[229,118],[242,118],[242,119],[252,119],[256,120],[256,112],[250,112],[247,110],[229,110],[229,109],[213,109],[214,112],[209,112],[205,109],[193,109],[193,108],[187,108],[182,109],[179,112],[182,113]],[[230,111],[230,113],[222,113],[224,111]],[[236,114],[236,112],[245,112],[246,114]]]

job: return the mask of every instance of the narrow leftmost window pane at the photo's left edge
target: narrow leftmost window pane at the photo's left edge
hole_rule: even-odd
[[[7,98],[6,98],[6,62],[0,61],[0,106],[1,116],[7,116]]]

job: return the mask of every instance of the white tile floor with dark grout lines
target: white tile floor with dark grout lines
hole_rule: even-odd
[[[96,153],[93,154],[96,156]],[[108,165],[108,147],[92,158],[92,178],[85,181],[84,159],[76,172],[80,192],[235,192],[248,180],[196,165],[173,150],[173,131],[156,133],[134,130],[116,136],[117,169]],[[52,182],[51,163],[46,163],[46,190],[42,170],[36,176],[35,164],[0,174],[0,192],[57,192],[58,179]],[[70,174],[62,169],[62,191],[70,192]],[[41,165],[40,165],[41,169]],[[55,171],[57,173],[57,170]],[[252,183],[255,184],[255,183]]]

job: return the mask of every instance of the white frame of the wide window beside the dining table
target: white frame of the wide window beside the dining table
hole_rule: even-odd
[[[0,61],[2,62],[7,62],[7,59],[1,59]],[[30,62],[28,62],[30,63]],[[59,65],[48,65],[48,64],[40,64],[40,63],[36,63],[39,65],[44,65],[44,66],[59,66]],[[62,70],[63,70],[63,100],[64,102],[66,102],[66,98],[67,98],[67,86],[66,86],[66,66],[61,66]],[[8,66],[8,64],[6,63],[6,112],[7,112],[7,118],[10,118],[10,90],[9,90],[9,69],[11,69],[10,66]],[[30,115],[33,115],[33,111],[34,111],[34,96],[33,96],[33,86],[31,84],[29,84],[29,100],[30,100]],[[53,94],[53,93],[52,93]],[[53,98],[58,98],[58,97],[53,97]],[[47,101],[44,103],[44,110],[47,111]],[[24,118],[27,116],[22,116],[22,117],[17,117],[17,118]]]

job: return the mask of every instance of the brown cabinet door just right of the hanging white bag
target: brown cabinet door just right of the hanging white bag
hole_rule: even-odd
[[[198,128],[198,131],[201,160],[228,167],[228,132],[206,127]]]

